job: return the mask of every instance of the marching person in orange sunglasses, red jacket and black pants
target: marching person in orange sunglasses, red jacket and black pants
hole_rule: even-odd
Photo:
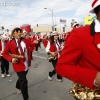
[[[21,34],[22,30],[20,28],[15,28],[12,31],[14,39],[7,42],[3,57],[12,62],[13,69],[17,73],[17,92],[20,93],[21,91],[23,99],[28,100],[28,81],[26,75],[30,66],[31,54],[29,43],[27,39],[21,38]]]

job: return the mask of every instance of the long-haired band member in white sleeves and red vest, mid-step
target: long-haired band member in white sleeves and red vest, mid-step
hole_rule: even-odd
[[[51,59],[51,61],[50,61],[50,62],[52,62],[52,65],[54,67],[54,70],[52,72],[49,72],[49,75],[48,75],[48,79],[50,81],[52,80],[52,76],[56,74],[55,66],[58,61],[58,58],[60,57],[60,53],[62,50],[62,47],[61,47],[58,37],[59,37],[58,32],[54,31],[51,36],[51,40],[48,41],[48,44],[46,46],[46,52],[49,55],[55,57],[54,59]],[[59,74],[57,74],[57,81],[62,82],[62,77]]]

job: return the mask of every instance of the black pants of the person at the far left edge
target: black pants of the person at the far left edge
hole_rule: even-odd
[[[4,59],[3,57],[1,58],[1,73],[4,74],[9,74],[9,62]]]

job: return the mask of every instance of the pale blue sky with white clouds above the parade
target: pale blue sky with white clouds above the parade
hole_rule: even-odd
[[[93,0],[0,0],[0,26],[14,27],[22,24],[31,26],[52,25],[52,13],[54,23],[60,26],[59,20],[66,19],[67,26],[71,20],[83,22],[83,18],[91,10]],[[12,3],[10,5],[10,3]],[[44,9],[49,8],[49,9]]]

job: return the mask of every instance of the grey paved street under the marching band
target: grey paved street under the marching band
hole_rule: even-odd
[[[56,75],[52,81],[47,79],[48,72],[53,69],[52,64],[46,59],[45,50],[39,49],[39,53],[33,53],[34,60],[28,72],[29,100],[74,100],[69,94],[71,82],[63,79],[57,82]],[[20,66],[19,66],[20,67]],[[10,65],[11,77],[0,77],[0,100],[23,100],[21,94],[16,93],[15,83],[17,75]],[[9,82],[12,80],[12,82]]]

